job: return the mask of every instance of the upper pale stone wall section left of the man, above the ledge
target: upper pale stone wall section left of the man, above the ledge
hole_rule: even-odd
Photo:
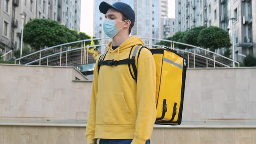
[[[73,67],[0,65],[0,119],[86,119],[85,80]]]

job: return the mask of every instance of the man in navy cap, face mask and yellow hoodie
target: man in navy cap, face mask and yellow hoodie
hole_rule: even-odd
[[[105,14],[104,32],[112,38],[108,52],[102,56],[104,61],[128,59],[134,46],[144,46],[138,36],[129,37],[135,13],[128,4],[102,2],[99,10]],[[128,64],[101,65],[98,70],[98,61],[86,127],[87,144],[96,144],[97,139],[100,144],[149,144],[156,118],[156,65],[151,52],[142,48],[136,59],[137,81]]]

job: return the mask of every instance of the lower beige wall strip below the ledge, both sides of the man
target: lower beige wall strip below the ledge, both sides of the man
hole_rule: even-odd
[[[83,127],[0,126],[0,144],[86,144]],[[256,144],[256,128],[154,128],[151,144]]]

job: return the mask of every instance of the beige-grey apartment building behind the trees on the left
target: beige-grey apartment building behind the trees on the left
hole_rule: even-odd
[[[32,19],[42,18],[80,31],[80,7],[80,0],[0,0],[0,52],[4,54],[20,48],[22,16],[24,25]],[[13,54],[4,57],[5,60],[12,58]]]

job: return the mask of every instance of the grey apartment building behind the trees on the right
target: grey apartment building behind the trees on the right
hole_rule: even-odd
[[[240,54],[256,56],[256,0],[175,2],[175,32],[196,26],[217,26],[229,32],[231,43],[235,45],[236,61],[243,60]],[[223,49],[217,52],[222,53]]]

